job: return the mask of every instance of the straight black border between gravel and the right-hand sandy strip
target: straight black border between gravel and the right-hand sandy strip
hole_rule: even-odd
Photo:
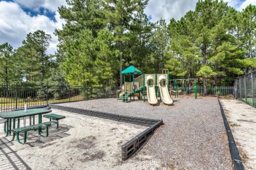
[[[218,99],[219,101],[219,99]],[[228,125],[228,120],[226,119],[226,116],[224,114],[223,106],[221,105],[221,101],[219,101],[219,105],[221,107],[221,114],[223,116],[223,122],[224,126],[226,128],[226,134],[228,135],[228,144],[229,144],[229,150],[230,155],[233,163],[233,168],[235,170],[244,170],[244,165],[242,163],[241,157],[238,152],[238,148],[236,148],[236,142],[234,141],[234,137],[232,135],[232,131]]]

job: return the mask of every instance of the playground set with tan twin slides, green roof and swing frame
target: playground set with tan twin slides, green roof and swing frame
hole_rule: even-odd
[[[123,70],[121,73],[123,74],[123,86],[121,86],[121,90],[117,90],[117,100],[121,100],[125,103],[128,103],[132,100],[135,101],[135,96],[138,99],[143,99],[145,101],[145,95],[148,99],[148,103],[150,105],[157,105],[159,96],[161,101],[165,103],[165,105],[173,105],[173,99],[170,96],[170,90],[173,88],[171,86],[171,81],[174,81],[175,86],[175,97],[178,97],[179,87],[177,85],[177,81],[179,80],[188,80],[188,79],[169,79],[169,71],[167,69],[163,69],[162,74],[144,74],[139,69],[131,65],[127,69]],[[130,82],[125,81],[125,75],[130,75]],[[135,76],[137,76],[135,78]],[[194,80],[195,89],[196,89],[196,79]],[[130,97],[130,100],[129,100]],[[197,97],[195,91],[195,98]]]

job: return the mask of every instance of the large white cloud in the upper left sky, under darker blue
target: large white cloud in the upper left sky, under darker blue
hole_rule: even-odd
[[[13,48],[18,48],[28,33],[41,29],[51,35],[48,52],[54,54],[58,44],[54,29],[60,29],[64,23],[58,12],[55,18],[56,22],[44,15],[30,16],[17,3],[0,1],[0,44],[9,42]]]

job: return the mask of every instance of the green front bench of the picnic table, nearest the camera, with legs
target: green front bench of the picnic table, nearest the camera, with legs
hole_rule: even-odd
[[[49,126],[51,126],[51,124],[58,124],[58,122],[57,121],[50,121],[50,122],[44,122],[44,123],[41,123],[41,124],[34,124],[34,125],[31,125],[31,126],[18,127],[18,128],[12,129],[12,132],[16,133],[16,136],[17,136],[16,139],[17,139],[18,143],[25,144],[26,141],[27,141],[27,132],[28,131],[38,130],[38,133],[39,133],[40,136],[48,137],[48,135],[49,135]],[[46,127],[46,136],[43,136],[43,135],[41,135],[41,129],[44,129],[45,127]],[[22,132],[24,133],[24,142],[23,143],[19,139],[19,135]]]

